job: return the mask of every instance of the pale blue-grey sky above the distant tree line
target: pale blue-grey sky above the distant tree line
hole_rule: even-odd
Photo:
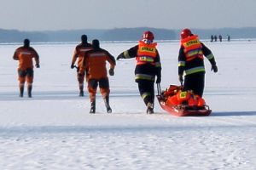
[[[0,0],[0,28],[256,27],[256,0]]]

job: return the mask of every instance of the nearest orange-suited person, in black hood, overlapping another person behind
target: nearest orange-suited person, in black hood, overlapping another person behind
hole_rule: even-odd
[[[100,48],[99,40],[92,41],[90,51],[84,53],[81,69],[79,74],[83,74],[87,70],[86,80],[88,82],[88,92],[90,94],[90,113],[96,112],[96,91],[100,87],[102,98],[104,99],[108,113],[112,112],[109,105],[109,81],[108,74],[114,75],[115,59],[107,50]],[[107,72],[106,61],[110,64],[110,69]]]

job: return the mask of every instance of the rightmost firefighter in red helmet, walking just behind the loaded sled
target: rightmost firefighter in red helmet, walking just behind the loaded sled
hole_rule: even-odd
[[[200,97],[205,87],[204,55],[211,62],[212,71],[217,72],[212,51],[200,42],[197,35],[186,28],[181,31],[181,47],[178,54],[178,79],[183,84],[183,73],[185,73],[183,90],[193,90]]]

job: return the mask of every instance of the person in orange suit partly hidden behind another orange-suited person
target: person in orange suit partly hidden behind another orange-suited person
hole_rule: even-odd
[[[86,51],[89,51],[92,49],[92,46],[90,43],[87,42],[87,36],[82,35],[81,36],[81,43],[76,46],[74,53],[73,53],[73,58],[71,62],[71,68],[73,69],[75,67],[75,62],[78,59],[78,66],[77,66],[77,77],[78,77],[78,82],[79,82],[79,96],[84,96],[84,76],[85,76],[85,71],[80,72],[79,70],[82,65],[82,59],[84,58],[84,53]]]

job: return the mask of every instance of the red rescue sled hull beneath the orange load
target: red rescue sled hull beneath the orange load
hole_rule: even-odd
[[[212,113],[208,105],[189,106],[189,105],[170,105],[166,104],[166,98],[160,91],[160,84],[157,84],[158,95],[156,96],[160,106],[173,116],[209,116]]]

